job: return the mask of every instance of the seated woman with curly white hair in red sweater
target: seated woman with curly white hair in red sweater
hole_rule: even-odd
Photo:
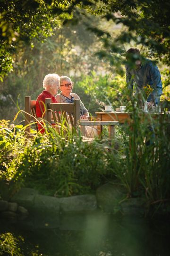
[[[44,77],[42,86],[45,90],[38,96],[35,104],[36,116],[38,118],[42,118],[44,116],[44,104],[46,98],[51,98],[52,103],[57,103],[54,96],[59,90],[59,80],[59,75],[55,73],[47,74]],[[38,124],[38,129],[41,130],[42,133],[44,132],[41,124]]]

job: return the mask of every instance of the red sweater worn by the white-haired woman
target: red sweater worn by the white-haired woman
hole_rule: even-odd
[[[52,103],[57,103],[55,97],[48,91],[42,91],[36,100],[35,109],[36,109],[36,116],[37,118],[43,118],[45,115],[44,112],[44,105],[45,99],[50,98]],[[44,129],[42,128],[41,124],[38,124],[38,129],[41,130],[41,133],[44,133]]]

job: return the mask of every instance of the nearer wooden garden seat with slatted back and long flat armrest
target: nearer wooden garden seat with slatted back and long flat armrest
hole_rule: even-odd
[[[80,126],[82,135],[85,136],[85,126],[98,126],[98,135],[101,136],[102,126],[109,126],[109,138],[114,137],[114,127],[119,124],[117,121],[87,121],[80,120],[80,101],[75,99],[74,104],[69,103],[51,103],[51,99],[45,99],[46,113],[45,119],[51,123],[51,112],[55,123],[61,123],[61,116],[66,121],[66,124],[71,124],[72,129],[77,130]],[[60,114],[59,114],[60,112]],[[68,120],[69,116],[69,120]],[[90,139],[88,139],[90,140]]]

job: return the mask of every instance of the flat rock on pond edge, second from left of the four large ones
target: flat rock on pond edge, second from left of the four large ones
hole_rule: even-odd
[[[36,195],[34,199],[34,209],[59,213],[59,201],[60,199],[56,197]]]

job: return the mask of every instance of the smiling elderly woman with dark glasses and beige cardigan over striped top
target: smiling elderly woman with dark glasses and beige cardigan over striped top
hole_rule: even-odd
[[[61,92],[56,95],[56,100],[59,103],[74,103],[75,99],[80,100],[80,97],[72,92],[73,82],[68,76],[60,77],[60,90]],[[85,108],[83,102],[80,100],[80,119],[88,120],[89,113]],[[85,126],[85,137],[95,137],[97,136],[97,130],[90,126]]]

